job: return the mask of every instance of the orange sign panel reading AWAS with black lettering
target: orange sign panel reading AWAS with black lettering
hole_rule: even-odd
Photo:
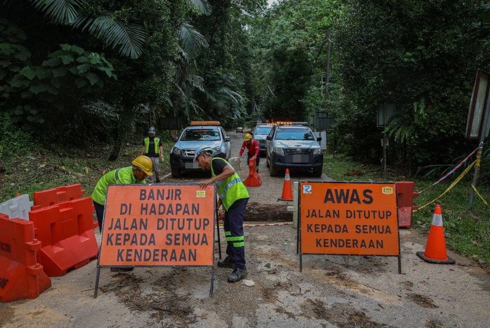
[[[399,256],[392,183],[300,182],[300,253]]]

